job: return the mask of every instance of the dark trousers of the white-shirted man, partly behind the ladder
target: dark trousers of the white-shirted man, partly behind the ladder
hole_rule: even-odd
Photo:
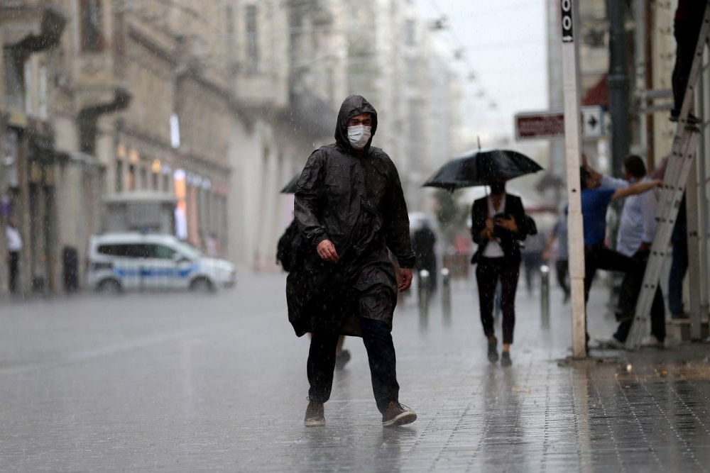
[[[648,264],[650,250],[637,251],[632,259],[638,265],[635,272],[627,272],[621,283],[621,293],[619,294],[619,311],[624,318],[619,323],[614,338],[620,342],[626,342],[628,333],[631,330],[631,323],[636,311],[636,302],[643,286],[643,274]],[[665,340],[665,305],[663,304],[663,294],[661,288],[656,288],[656,294],[651,306],[651,334],[655,335],[658,341]]]

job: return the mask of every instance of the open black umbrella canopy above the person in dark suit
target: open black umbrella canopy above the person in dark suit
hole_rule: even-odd
[[[454,191],[461,187],[487,186],[495,181],[508,181],[541,170],[537,162],[517,151],[474,150],[447,162],[423,187]]]

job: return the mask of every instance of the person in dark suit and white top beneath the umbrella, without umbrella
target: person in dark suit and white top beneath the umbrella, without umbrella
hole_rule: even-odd
[[[525,215],[523,201],[506,193],[506,182],[491,183],[491,194],[474,201],[471,208],[471,237],[479,245],[472,263],[479,286],[479,309],[484,335],[488,339],[488,361],[498,361],[498,339],[493,330],[493,299],[501,281],[503,311],[503,353],[501,365],[513,364],[510,345],[515,328],[515,291],[520,277],[520,241],[535,235],[535,221]]]

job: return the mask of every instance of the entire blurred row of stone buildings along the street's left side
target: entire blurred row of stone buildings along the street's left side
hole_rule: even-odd
[[[106,232],[216,238],[275,269],[279,191],[348,94],[378,109],[413,210],[452,155],[457,77],[410,0],[0,0],[0,22],[0,230],[17,219],[23,292],[82,281]]]

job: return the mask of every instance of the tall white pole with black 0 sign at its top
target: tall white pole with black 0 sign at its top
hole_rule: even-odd
[[[562,84],[564,87],[564,148],[567,155],[569,211],[569,277],[572,286],[572,355],[586,357],[584,304],[584,234],[582,233],[579,163],[581,123],[579,110],[578,0],[560,0],[562,6]]]

